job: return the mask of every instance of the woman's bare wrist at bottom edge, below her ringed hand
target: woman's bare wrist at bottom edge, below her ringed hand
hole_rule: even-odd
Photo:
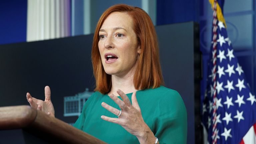
[[[155,144],[156,137],[151,129],[146,126],[145,130],[141,133],[140,136],[137,136],[140,144]],[[159,144],[159,142],[157,142]]]

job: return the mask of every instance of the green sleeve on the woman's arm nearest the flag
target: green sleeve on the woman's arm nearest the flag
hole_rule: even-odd
[[[160,144],[186,144],[187,110],[180,94],[175,90],[167,91],[159,99],[155,111],[156,134]]]

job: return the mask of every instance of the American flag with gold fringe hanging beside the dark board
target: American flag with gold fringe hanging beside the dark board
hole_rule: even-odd
[[[221,10],[217,12],[221,9],[218,2],[212,0],[209,77],[202,104],[207,141],[212,144],[256,144],[256,99],[235,57]],[[222,21],[218,14],[222,15]]]

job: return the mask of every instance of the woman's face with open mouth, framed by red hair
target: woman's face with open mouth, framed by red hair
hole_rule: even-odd
[[[107,74],[133,74],[141,50],[131,16],[123,12],[111,13],[100,28],[98,47]]]

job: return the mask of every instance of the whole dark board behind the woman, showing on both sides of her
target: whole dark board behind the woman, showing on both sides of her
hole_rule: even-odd
[[[166,87],[182,96],[188,113],[187,140],[195,143],[195,131],[200,126],[198,25],[193,22],[163,25],[157,26],[156,31]],[[0,106],[28,105],[26,92],[44,99],[44,87],[49,85],[55,116],[68,123],[75,122],[77,116],[63,116],[63,97],[84,92],[86,88],[94,89],[92,38],[93,35],[83,35],[0,45]],[[196,133],[197,139],[200,138],[200,131]],[[5,133],[0,131],[0,143],[4,137]]]

